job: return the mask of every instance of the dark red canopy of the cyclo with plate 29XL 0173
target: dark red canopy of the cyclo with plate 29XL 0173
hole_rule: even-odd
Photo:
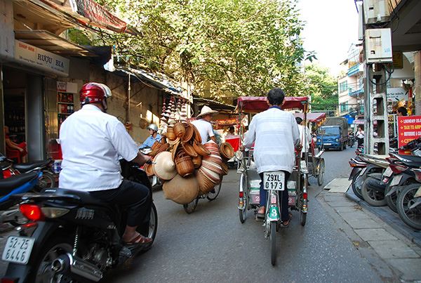
[[[298,108],[304,110],[305,105],[308,104],[309,98],[307,96],[298,97],[286,97],[282,105],[282,109],[294,109]],[[243,112],[258,113],[265,111],[269,108],[266,103],[266,97],[252,97],[252,96],[240,96],[237,98],[237,108]]]

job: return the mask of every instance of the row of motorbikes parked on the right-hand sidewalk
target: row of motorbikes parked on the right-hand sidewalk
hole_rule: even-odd
[[[357,197],[372,206],[389,206],[406,225],[421,230],[421,138],[390,150],[385,158],[357,149],[349,165]]]

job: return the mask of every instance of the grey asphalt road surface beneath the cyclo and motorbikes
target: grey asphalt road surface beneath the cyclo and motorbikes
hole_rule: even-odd
[[[349,174],[347,160],[354,149],[325,152],[323,185]],[[269,239],[262,222],[248,211],[241,224],[236,170],[224,177],[220,195],[213,202],[199,200],[196,211],[185,213],[180,204],[154,194],[158,233],[154,246],[130,265],[114,270],[105,282],[382,282],[372,260],[356,249],[316,199],[322,187],[310,178],[309,212],[305,227],[293,212],[288,228],[277,234],[277,265],[270,263]],[[6,235],[4,235],[5,237]],[[0,241],[4,245],[4,239]],[[4,274],[6,263],[0,263]]]

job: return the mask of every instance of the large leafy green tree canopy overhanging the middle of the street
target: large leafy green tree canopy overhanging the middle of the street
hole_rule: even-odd
[[[128,62],[194,85],[206,97],[304,94],[295,0],[100,0],[133,27],[101,34]]]

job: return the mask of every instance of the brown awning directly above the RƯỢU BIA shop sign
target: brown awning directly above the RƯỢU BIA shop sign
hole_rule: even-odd
[[[95,57],[95,53],[46,30],[16,30],[15,39],[63,56]]]

